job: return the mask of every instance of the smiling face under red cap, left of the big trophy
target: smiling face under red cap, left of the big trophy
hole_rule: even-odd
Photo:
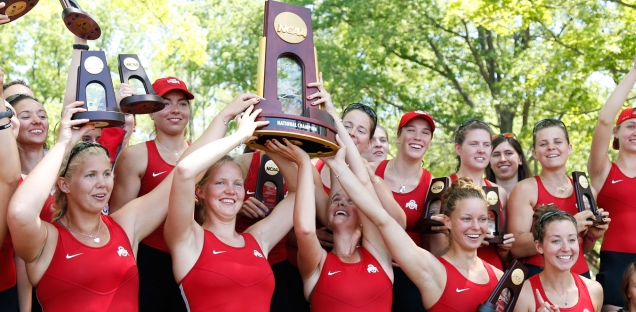
[[[157,131],[168,135],[180,135],[190,119],[190,103],[185,93],[172,90],[163,95],[164,109],[150,114]]]

